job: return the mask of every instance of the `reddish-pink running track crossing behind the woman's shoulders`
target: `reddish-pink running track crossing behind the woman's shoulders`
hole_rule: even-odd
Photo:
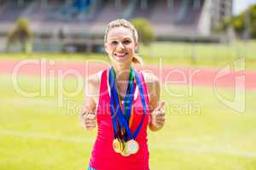
[[[74,77],[73,72],[81,77],[86,77],[88,74],[108,68],[108,65],[93,62],[89,64],[85,61],[84,63],[75,61],[70,63],[67,61],[55,61],[55,63],[50,63],[49,59],[34,59],[33,62],[27,59],[0,59],[1,74],[13,74],[15,68],[19,75],[40,76],[45,74],[48,76],[49,71],[54,71],[55,76],[57,76],[60,71],[62,73],[70,71],[72,72],[69,74],[71,77]],[[144,70],[154,72],[155,75],[160,77],[161,82],[168,82],[170,84],[192,84],[195,86],[208,86],[213,88],[215,82],[217,88],[235,88],[238,85],[241,86],[241,88],[244,86],[246,89],[256,89],[256,71],[234,71],[232,70],[232,66],[230,67],[230,71],[224,70],[224,68],[181,68],[175,66],[160,67],[155,65],[146,65]],[[238,79],[240,83],[235,85]]]

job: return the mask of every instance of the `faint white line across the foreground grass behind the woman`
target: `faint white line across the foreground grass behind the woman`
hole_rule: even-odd
[[[92,138],[79,138],[79,137],[70,137],[70,136],[56,136],[51,134],[38,134],[38,133],[24,133],[16,132],[12,130],[0,130],[0,135],[8,135],[13,137],[22,137],[29,139],[51,139],[51,140],[60,140],[63,142],[70,143],[92,143],[95,139]],[[191,146],[177,146],[177,144],[149,144],[149,148],[153,150],[189,150],[195,152],[210,152],[216,154],[226,154],[230,156],[240,156],[240,157],[256,157],[256,152],[245,151],[245,150],[227,150],[227,149],[216,149],[210,146],[202,147],[191,147]]]

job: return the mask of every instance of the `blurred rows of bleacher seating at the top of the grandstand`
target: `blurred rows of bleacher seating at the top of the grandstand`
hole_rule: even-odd
[[[31,20],[36,32],[51,33],[56,26],[66,26],[68,31],[81,31],[74,33],[96,34],[102,34],[110,20],[144,17],[157,33],[177,35],[184,29],[185,33],[195,30],[204,0],[44,0],[45,4],[39,0],[24,0],[22,5],[16,0],[1,2],[0,31],[19,16]]]

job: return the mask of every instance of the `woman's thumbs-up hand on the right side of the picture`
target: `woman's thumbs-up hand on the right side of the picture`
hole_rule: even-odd
[[[154,129],[160,129],[164,126],[166,118],[164,109],[165,102],[161,101],[160,104],[151,113],[151,127]]]

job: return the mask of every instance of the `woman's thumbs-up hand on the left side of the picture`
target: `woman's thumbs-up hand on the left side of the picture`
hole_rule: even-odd
[[[94,129],[96,127],[96,112],[87,107],[80,116],[80,122],[85,129]]]

